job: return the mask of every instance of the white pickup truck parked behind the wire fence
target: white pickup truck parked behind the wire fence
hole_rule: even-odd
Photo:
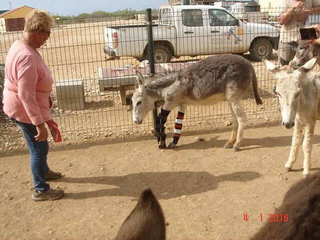
[[[172,57],[250,52],[252,60],[269,58],[277,49],[276,27],[242,22],[226,9],[213,5],[176,5],[159,9],[153,25],[154,61]],[[110,59],[148,56],[146,25],[105,27],[104,52]]]

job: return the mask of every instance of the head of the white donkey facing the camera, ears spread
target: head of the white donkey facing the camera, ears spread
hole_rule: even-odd
[[[282,125],[285,128],[294,126],[294,118],[300,103],[303,80],[317,61],[316,57],[308,60],[297,69],[292,68],[292,62],[286,68],[279,69],[271,61],[263,59],[265,67],[277,79],[274,93],[277,95],[281,108]]]

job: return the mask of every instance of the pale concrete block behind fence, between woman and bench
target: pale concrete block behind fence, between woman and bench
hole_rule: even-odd
[[[82,79],[65,79],[55,83],[58,107],[63,110],[84,108],[84,87]]]

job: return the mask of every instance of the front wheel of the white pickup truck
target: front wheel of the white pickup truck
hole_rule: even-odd
[[[250,58],[254,61],[261,61],[262,58],[269,59],[272,54],[272,44],[266,38],[257,38],[251,43]]]

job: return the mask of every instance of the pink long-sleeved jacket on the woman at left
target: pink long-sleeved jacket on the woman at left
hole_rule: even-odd
[[[52,76],[40,54],[14,41],[5,58],[3,111],[20,122],[50,120]]]

